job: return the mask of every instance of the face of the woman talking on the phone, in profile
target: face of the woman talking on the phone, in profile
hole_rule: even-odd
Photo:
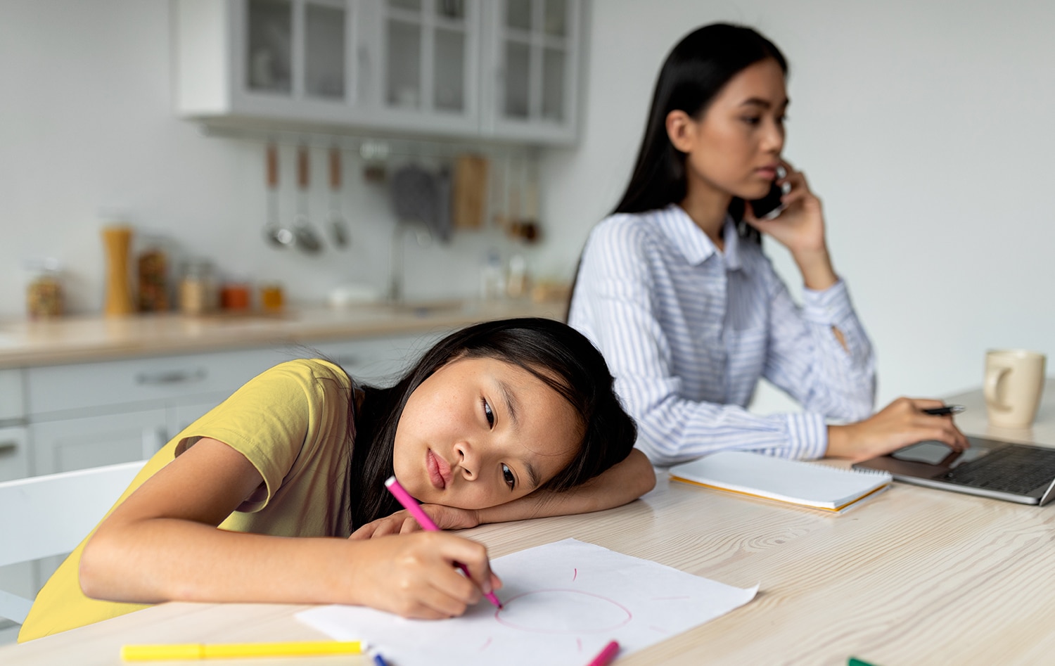
[[[699,119],[668,116],[668,135],[686,153],[690,188],[754,199],[765,196],[784,149],[784,72],[766,59],[733,76]],[[671,121],[674,114],[684,116]]]

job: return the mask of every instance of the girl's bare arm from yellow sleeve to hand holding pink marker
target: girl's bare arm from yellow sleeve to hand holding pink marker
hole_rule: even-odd
[[[414,617],[449,617],[499,587],[486,549],[437,532],[372,541],[294,538],[216,529],[261,486],[256,469],[204,438],[108,516],[85,545],[91,597],[156,603],[356,604]]]

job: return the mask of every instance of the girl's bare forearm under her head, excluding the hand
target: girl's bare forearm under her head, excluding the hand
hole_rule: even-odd
[[[652,463],[644,453],[633,449],[625,460],[576,488],[562,492],[537,491],[515,501],[481,509],[478,515],[480,522],[505,522],[590,513],[633,501],[655,484]]]

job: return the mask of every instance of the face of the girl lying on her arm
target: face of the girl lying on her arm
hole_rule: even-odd
[[[578,414],[539,378],[496,359],[459,359],[410,394],[392,463],[419,501],[483,509],[549,481],[581,437]]]

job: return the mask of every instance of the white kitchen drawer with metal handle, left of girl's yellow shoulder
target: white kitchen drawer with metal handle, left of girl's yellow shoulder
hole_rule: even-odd
[[[25,378],[26,403],[28,413],[37,416],[230,394],[287,357],[288,349],[250,349],[31,367]]]

